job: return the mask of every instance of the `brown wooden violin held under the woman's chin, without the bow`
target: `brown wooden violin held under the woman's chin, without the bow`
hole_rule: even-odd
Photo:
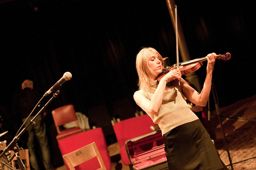
[[[225,55],[217,55],[217,57],[215,59],[222,59],[222,60],[229,60],[231,57],[230,53],[226,53]],[[194,60],[190,60],[187,62],[181,62],[179,63],[179,70],[181,72],[181,75],[186,75],[189,73],[192,73],[196,70],[198,70],[202,65],[203,65],[203,61],[207,60],[205,57],[203,58],[198,58],[198,59],[194,59]],[[177,69],[177,64],[174,64],[173,66],[169,67],[167,66],[165,69],[162,70],[162,73],[157,75],[157,80],[160,81],[161,78],[163,76],[165,76],[169,71]],[[172,81],[172,80],[171,80]]]

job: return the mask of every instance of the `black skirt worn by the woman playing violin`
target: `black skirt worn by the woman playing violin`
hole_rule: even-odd
[[[223,168],[217,150],[199,119],[175,127],[163,136],[169,169]]]

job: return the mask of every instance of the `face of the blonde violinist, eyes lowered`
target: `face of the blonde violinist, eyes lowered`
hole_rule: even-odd
[[[149,53],[149,68],[155,73],[160,74],[162,72],[162,63],[160,57],[156,56],[154,53]]]

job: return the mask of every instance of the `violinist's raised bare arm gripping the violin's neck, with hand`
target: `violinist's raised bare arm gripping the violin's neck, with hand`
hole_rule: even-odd
[[[215,63],[215,57],[217,55],[215,53],[211,53],[207,55],[207,68],[206,68],[206,78],[204,80],[204,86],[199,94],[196,90],[194,90],[188,83],[181,79],[182,91],[183,95],[192,103],[197,104],[199,106],[205,106],[207,104],[209,94],[211,91],[211,80],[212,80],[212,71]]]

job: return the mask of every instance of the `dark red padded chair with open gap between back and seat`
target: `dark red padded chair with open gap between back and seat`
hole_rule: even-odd
[[[56,136],[57,141],[82,132],[82,129],[79,128],[75,108],[72,104],[54,109],[52,111],[52,117],[58,132]],[[72,121],[76,121],[76,127],[60,130],[59,126]]]

